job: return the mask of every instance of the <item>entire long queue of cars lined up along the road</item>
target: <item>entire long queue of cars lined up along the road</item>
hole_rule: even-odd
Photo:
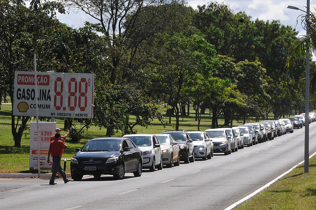
[[[316,114],[310,117],[316,121]],[[129,134],[123,137],[105,137],[88,141],[71,158],[72,179],[79,181],[83,175],[98,178],[102,174],[123,179],[125,173],[135,177],[149,171],[188,164],[195,158],[211,159],[214,153],[225,155],[237,152],[244,146],[273,140],[277,136],[293,133],[303,124],[303,115],[260,123],[245,123],[233,128],[206,129],[205,131],[169,130],[160,134]],[[305,121],[305,117],[304,117]],[[310,121],[311,122],[311,121]]]

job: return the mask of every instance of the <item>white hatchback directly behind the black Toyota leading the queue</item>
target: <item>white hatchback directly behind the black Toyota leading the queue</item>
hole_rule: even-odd
[[[143,168],[149,171],[162,169],[162,152],[158,137],[155,134],[128,134],[123,137],[129,138],[143,151]]]

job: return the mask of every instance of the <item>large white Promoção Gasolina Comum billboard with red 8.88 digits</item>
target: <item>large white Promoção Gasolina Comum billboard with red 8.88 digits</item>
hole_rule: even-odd
[[[36,116],[35,73],[15,71],[13,115]],[[94,74],[37,72],[39,117],[92,118]]]

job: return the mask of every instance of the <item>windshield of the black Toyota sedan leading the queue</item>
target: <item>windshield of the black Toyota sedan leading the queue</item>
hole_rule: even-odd
[[[81,148],[82,151],[119,151],[120,140],[116,139],[100,139],[88,141]]]

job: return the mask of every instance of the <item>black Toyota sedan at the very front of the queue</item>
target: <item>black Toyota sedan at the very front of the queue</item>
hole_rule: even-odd
[[[70,173],[75,181],[83,175],[100,177],[102,174],[113,175],[123,179],[125,173],[134,173],[135,177],[142,175],[143,153],[128,138],[91,139],[77,154],[71,158]]]

